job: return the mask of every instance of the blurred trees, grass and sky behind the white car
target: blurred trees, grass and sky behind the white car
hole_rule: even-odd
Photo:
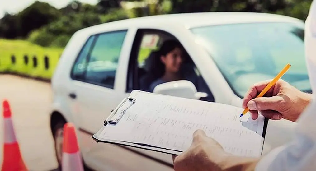
[[[100,23],[148,15],[207,11],[266,12],[305,20],[310,4],[311,0],[2,0],[0,57],[3,60],[0,61],[0,71],[50,79],[71,35]],[[47,62],[30,71],[23,60],[16,60],[20,63],[11,65],[15,58]],[[32,62],[26,63],[31,65]]]

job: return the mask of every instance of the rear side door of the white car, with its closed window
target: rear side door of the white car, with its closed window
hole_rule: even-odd
[[[124,46],[127,32],[103,32],[88,38],[72,69],[69,98],[73,116],[79,121],[78,139],[84,157],[94,161],[98,160],[94,151],[104,151],[106,145],[97,144],[91,136],[126,96],[119,88],[126,80],[119,76],[119,70],[124,70],[119,61],[124,63],[128,57],[122,52],[124,47],[128,50]]]

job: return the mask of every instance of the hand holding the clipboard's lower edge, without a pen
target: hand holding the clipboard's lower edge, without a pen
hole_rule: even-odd
[[[233,156],[225,152],[203,130],[194,132],[188,150],[179,156],[173,156],[175,171],[252,171],[257,162],[258,159]]]

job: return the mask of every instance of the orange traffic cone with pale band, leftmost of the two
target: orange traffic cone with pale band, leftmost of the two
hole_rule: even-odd
[[[2,171],[27,171],[16,141],[11,120],[11,110],[7,100],[3,101],[4,145]]]

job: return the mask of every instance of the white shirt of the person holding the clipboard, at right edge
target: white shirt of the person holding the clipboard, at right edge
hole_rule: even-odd
[[[295,139],[263,156],[256,171],[316,170],[316,1],[313,1],[305,22],[304,39],[313,101],[297,121]]]

